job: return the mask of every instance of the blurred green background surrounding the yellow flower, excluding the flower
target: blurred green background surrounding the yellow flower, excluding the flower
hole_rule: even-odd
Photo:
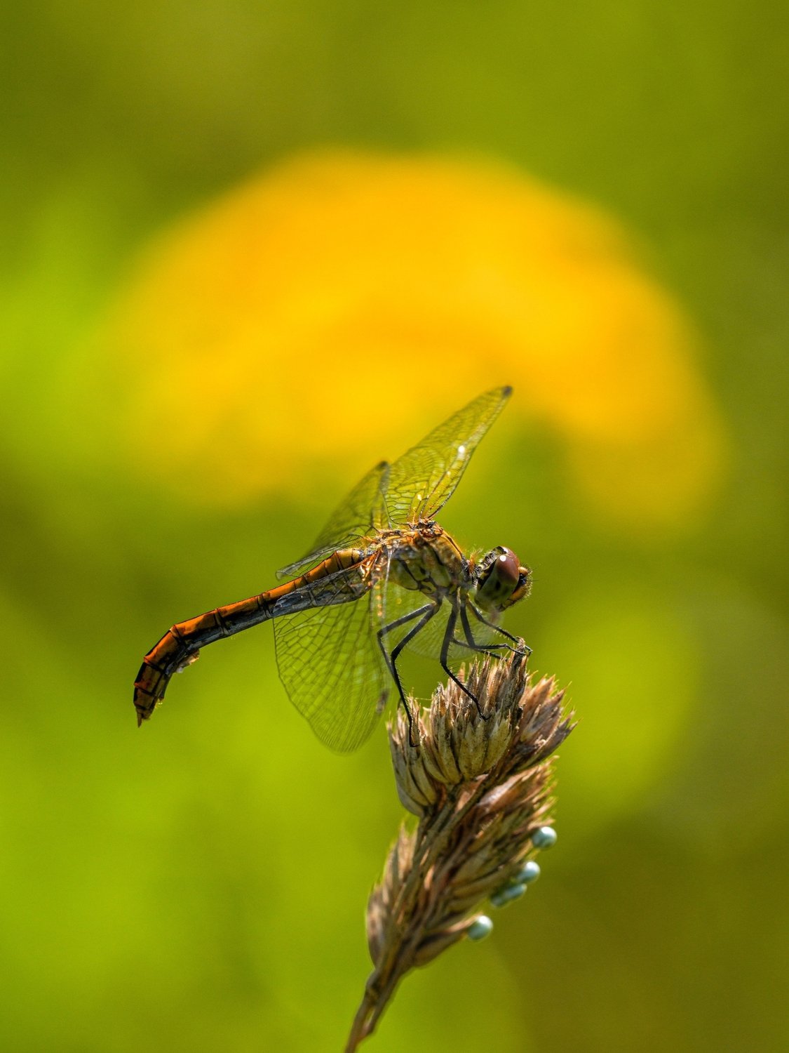
[[[174,620],[274,583],[355,475],[490,386],[484,363],[402,421],[379,364],[353,373],[381,437],[366,419],[336,477],[300,485],[306,452],[243,501],[121,451],[105,418],[156,389],[147,367],[104,378],[105,418],[80,397],[150,238],[337,145],[487,157],[607,211],[699,335],[725,436],[711,496],[649,530],[579,498],[523,385],[478,454],[445,524],[535,569],[511,624],[581,720],[560,840],[486,943],[408,978],[370,1050],[789,1047],[787,21],[735,0],[4,4],[2,1049],[339,1050],[361,997],[401,816],[383,731],[324,750],[265,627],[140,732],[130,686]],[[330,398],[335,365],[358,369],[317,347],[272,371],[259,405],[302,369]]]

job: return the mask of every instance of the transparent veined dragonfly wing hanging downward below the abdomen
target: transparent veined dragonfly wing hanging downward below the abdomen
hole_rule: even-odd
[[[352,572],[357,580],[346,594],[362,573]],[[352,602],[309,608],[274,623],[277,664],[290,701],[322,742],[343,753],[369,737],[389,690],[370,597],[368,590]]]

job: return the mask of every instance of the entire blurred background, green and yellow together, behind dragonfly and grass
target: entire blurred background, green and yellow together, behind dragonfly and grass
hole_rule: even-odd
[[[132,681],[510,382],[444,524],[534,568],[559,845],[369,1049],[786,1049],[786,6],[3,22],[0,1046],[342,1048],[383,728],[323,749],[267,627]]]

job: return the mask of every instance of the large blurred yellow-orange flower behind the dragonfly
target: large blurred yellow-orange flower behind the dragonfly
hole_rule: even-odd
[[[650,525],[719,474],[692,342],[588,205],[484,163],[329,153],[160,237],[95,364],[132,462],[200,500],[296,489],[328,461],[350,481],[508,382],[593,508]]]

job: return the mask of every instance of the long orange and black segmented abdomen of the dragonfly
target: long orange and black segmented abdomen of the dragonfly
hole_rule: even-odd
[[[277,589],[215,608],[197,618],[171,625],[145,655],[137,674],[135,709],[138,727],[162,701],[174,674],[197,661],[201,648],[281,615],[358,599],[369,588],[368,583],[361,576],[357,581],[349,582],[342,572],[358,564],[363,556],[364,553],[358,549],[335,552],[312,570]],[[337,588],[327,590],[323,579],[331,575],[337,575]],[[313,584],[319,581],[324,584],[320,596],[313,591]]]

